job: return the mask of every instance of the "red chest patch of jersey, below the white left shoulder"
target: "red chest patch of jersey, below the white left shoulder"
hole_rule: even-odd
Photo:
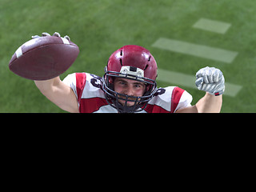
[[[109,105],[106,98],[82,98],[80,105],[80,113],[93,113],[102,106]]]

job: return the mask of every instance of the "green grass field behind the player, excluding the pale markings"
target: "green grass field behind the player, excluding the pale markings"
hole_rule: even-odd
[[[0,112],[63,112],[33,81],[13,74],[8,63],[22,43],[42,32],[68,34],[80,48],[74,72],[103,75],[110,54],[121,46],[144,46],[158,68],[194,75],[204,66],[222,70],[226,82],[242,86],[223,96],[222,112],[256,111],[256,3],[254,0],[0,0]],[[200,18],[230,23],[225,34],[193,28]],[[158,38],[178,39],[238,52],[231,63],[171,52],[152,46]],[[180,86],[193,96],[204,92]]]

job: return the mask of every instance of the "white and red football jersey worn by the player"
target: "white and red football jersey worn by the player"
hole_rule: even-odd
[[[78,100],[80,113],[118,113],[106,101],[101,78],[95,74],[74,73],[63,79]],[[178,86],[158,88],[146,108],[139,113],[174,113],[191,106],[192,96]]]

